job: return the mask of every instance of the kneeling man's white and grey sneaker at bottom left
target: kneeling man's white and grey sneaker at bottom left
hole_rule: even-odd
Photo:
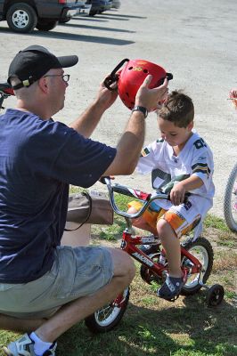
[[[34,351],[34,341],[32,341],[28,334],[23,335],[20,339],[4,346],[4,353],[8,356],[37,356]],[[53,343],[43,356],[55,356],[57,344]]]

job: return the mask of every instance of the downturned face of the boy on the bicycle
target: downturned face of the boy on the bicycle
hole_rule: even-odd
[[[173,122],[158,117],[158,126],[162,139],[170,146],[184,146],[192,135],[193,121],[187,127],[178,127]]]

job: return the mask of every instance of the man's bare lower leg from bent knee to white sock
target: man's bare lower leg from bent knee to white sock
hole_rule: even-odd
[[[35,330],[42,341],[53,343],[61,334],[84,320],[104,304],[110,303],[120,292],[122,292],[135,277],[135,264],[126,252],[120,249],[110,249],[114,262],[114,277],[110,283],[94,295],[81,297],[61,307],[53,314],[51,319],[46,320]]]

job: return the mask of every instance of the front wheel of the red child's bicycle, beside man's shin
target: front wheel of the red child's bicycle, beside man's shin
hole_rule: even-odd
[[[85,319],[86,327],[93,333],[105,333],[115,328],[122,319],[129,300],[129,287],[111,303]]]

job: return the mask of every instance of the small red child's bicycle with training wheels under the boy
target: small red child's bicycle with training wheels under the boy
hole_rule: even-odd
[[[132,218],[141,216],[144,210],[151,204],[154,199],[168,199],[168,195],[157,191],[153,194],[147,194],[140,190],[127,188],[119,184],[111,184],[110,178],[104,178],[110,195],[110,203],[115,213],[123,216],[127,222],[127,229],[123,231],[121,249],[135,258],[136,261],[141,263],[141,277],[142,279],[151,284],[155,281],[159,284],[163,283],[168,274],[168,261],[166,259],[165,251],[162,249],[158,237],[143,237],[133,234]],[[115,203],[115,195],[124,194],[129,197],[138,198],[143,201],[143,207],[136,214],[127,214],[119,210]],[[141,250],[142,245],[155,245],[157,251],[151,255],[146,255]],[[206,282],[212,270],[213,265],[213,249],[208,239],[200,237],[193,240],[192,238],[185,239],[181,243],[181,261],[182,270],[186,282],[181,290],[181,295],[193,295],[197,293],[201,287],[208,289],[207,303],[208,306],[216,306],[222,302],[224,298],[224,288],[221,285],[214,285],[208,287]],[[86,327],[94,333],[103,333],[110,331],[112,328],[119,324],[124,312],[127,309],[129,300],[129,287],[111,303],[103,306],[97,312],[86,318]]]

